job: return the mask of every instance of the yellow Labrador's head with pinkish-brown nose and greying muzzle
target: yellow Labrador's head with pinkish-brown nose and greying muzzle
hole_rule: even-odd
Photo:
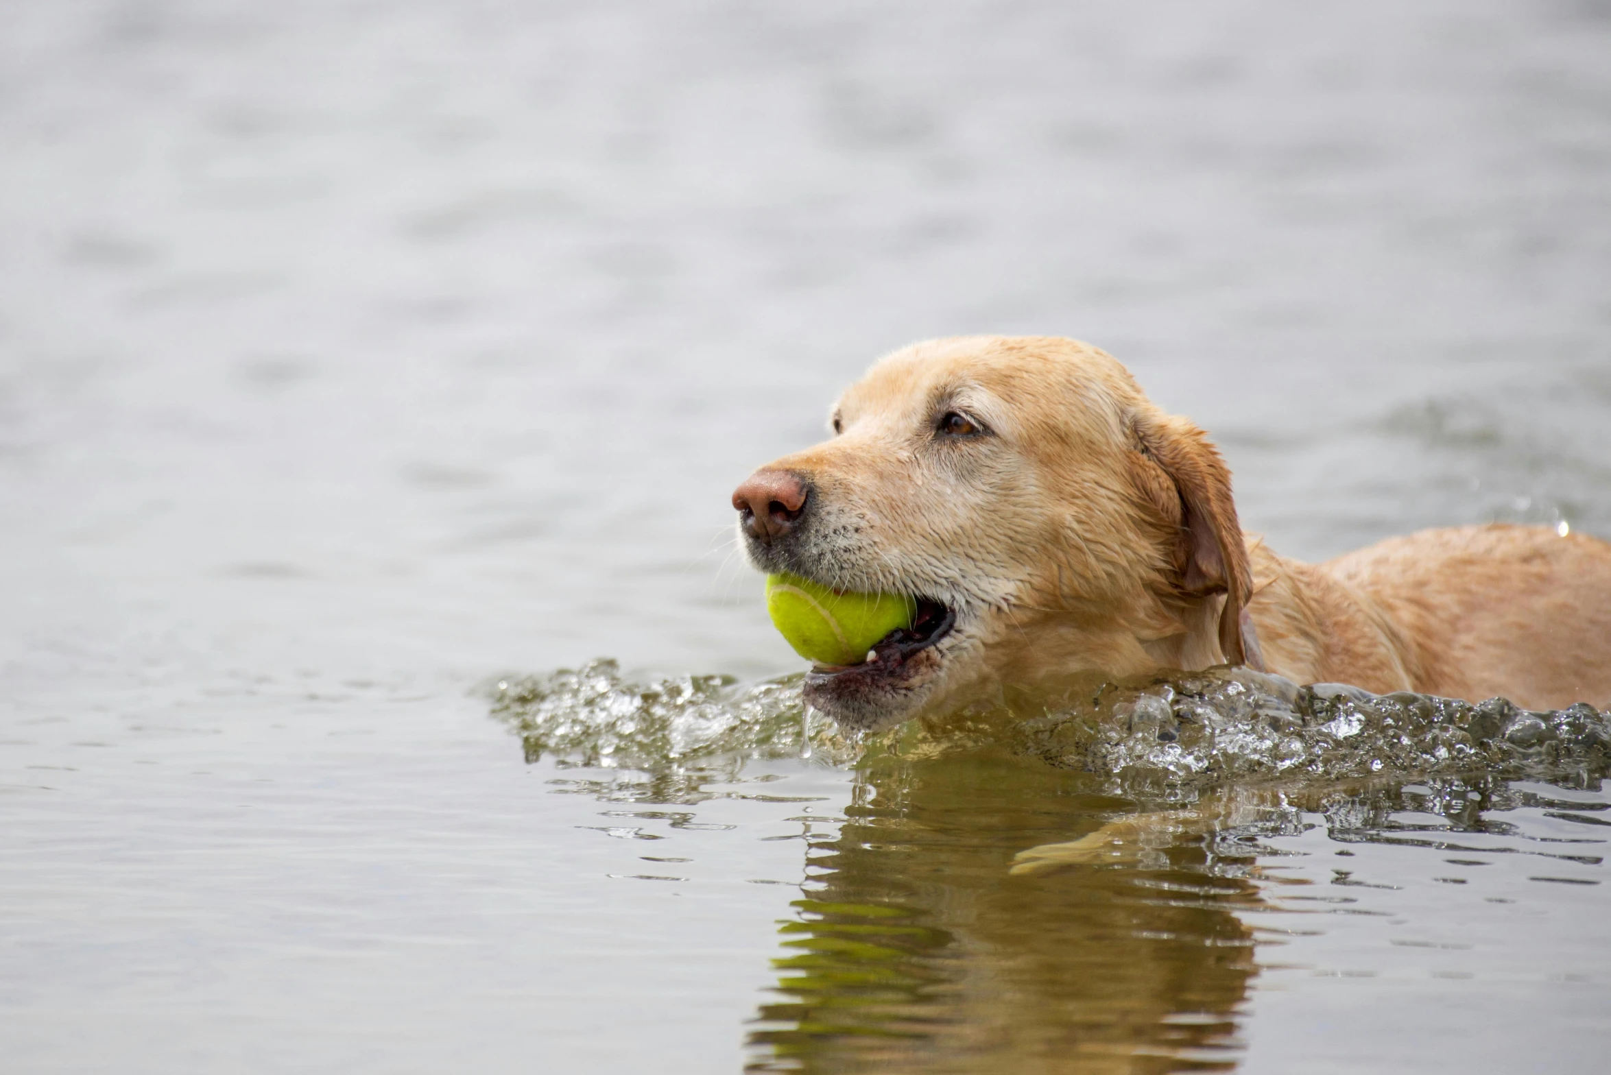
[[[1002,686],[1257,660],[1231,476],[1129,372],[1057,338],[897,351],[834,404],[833,436],[733,494],[764,571],[910,594],[917,621],[806,698],[881,729]]]

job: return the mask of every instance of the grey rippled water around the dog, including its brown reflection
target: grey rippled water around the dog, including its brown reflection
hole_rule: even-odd
[[[3,5],[8,1067],[1585,1067],[1582,758],[527,763],[487,690],[794,671],[727,496],[928,335],[1099,343],[1289,555],[1611,536],[1608,14]]]

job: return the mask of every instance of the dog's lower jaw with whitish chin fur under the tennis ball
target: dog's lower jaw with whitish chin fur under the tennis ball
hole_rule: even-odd
[[[928,613],[925,616],[925,612]],[[918,716],[947,694],[955,613],[933,605],[913,631],[891,631],[860,665],[817,665],[806,673],[806,703],[849,732],[881,732]],[[954,640],[954,639],[950,639]]]

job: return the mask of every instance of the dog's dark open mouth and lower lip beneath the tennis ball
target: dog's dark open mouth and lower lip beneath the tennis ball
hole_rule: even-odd
[[[907,695],[939,666],[934,645],[955,626],[952,608],[918,597],[912,626],[878,639],[860,665],[814,665],[806,674],[806,702],[849,727],[904,719]]]

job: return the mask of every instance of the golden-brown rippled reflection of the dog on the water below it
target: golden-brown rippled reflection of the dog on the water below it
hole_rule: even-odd
[[[1258,974],[1257,848],[1158,832],[1110,869],[1007,871],[1015,848],[1110,818],[1099,789],[992,748],[868,758],[843,826],[810,843],[751,1070],[1229,1067]]]

